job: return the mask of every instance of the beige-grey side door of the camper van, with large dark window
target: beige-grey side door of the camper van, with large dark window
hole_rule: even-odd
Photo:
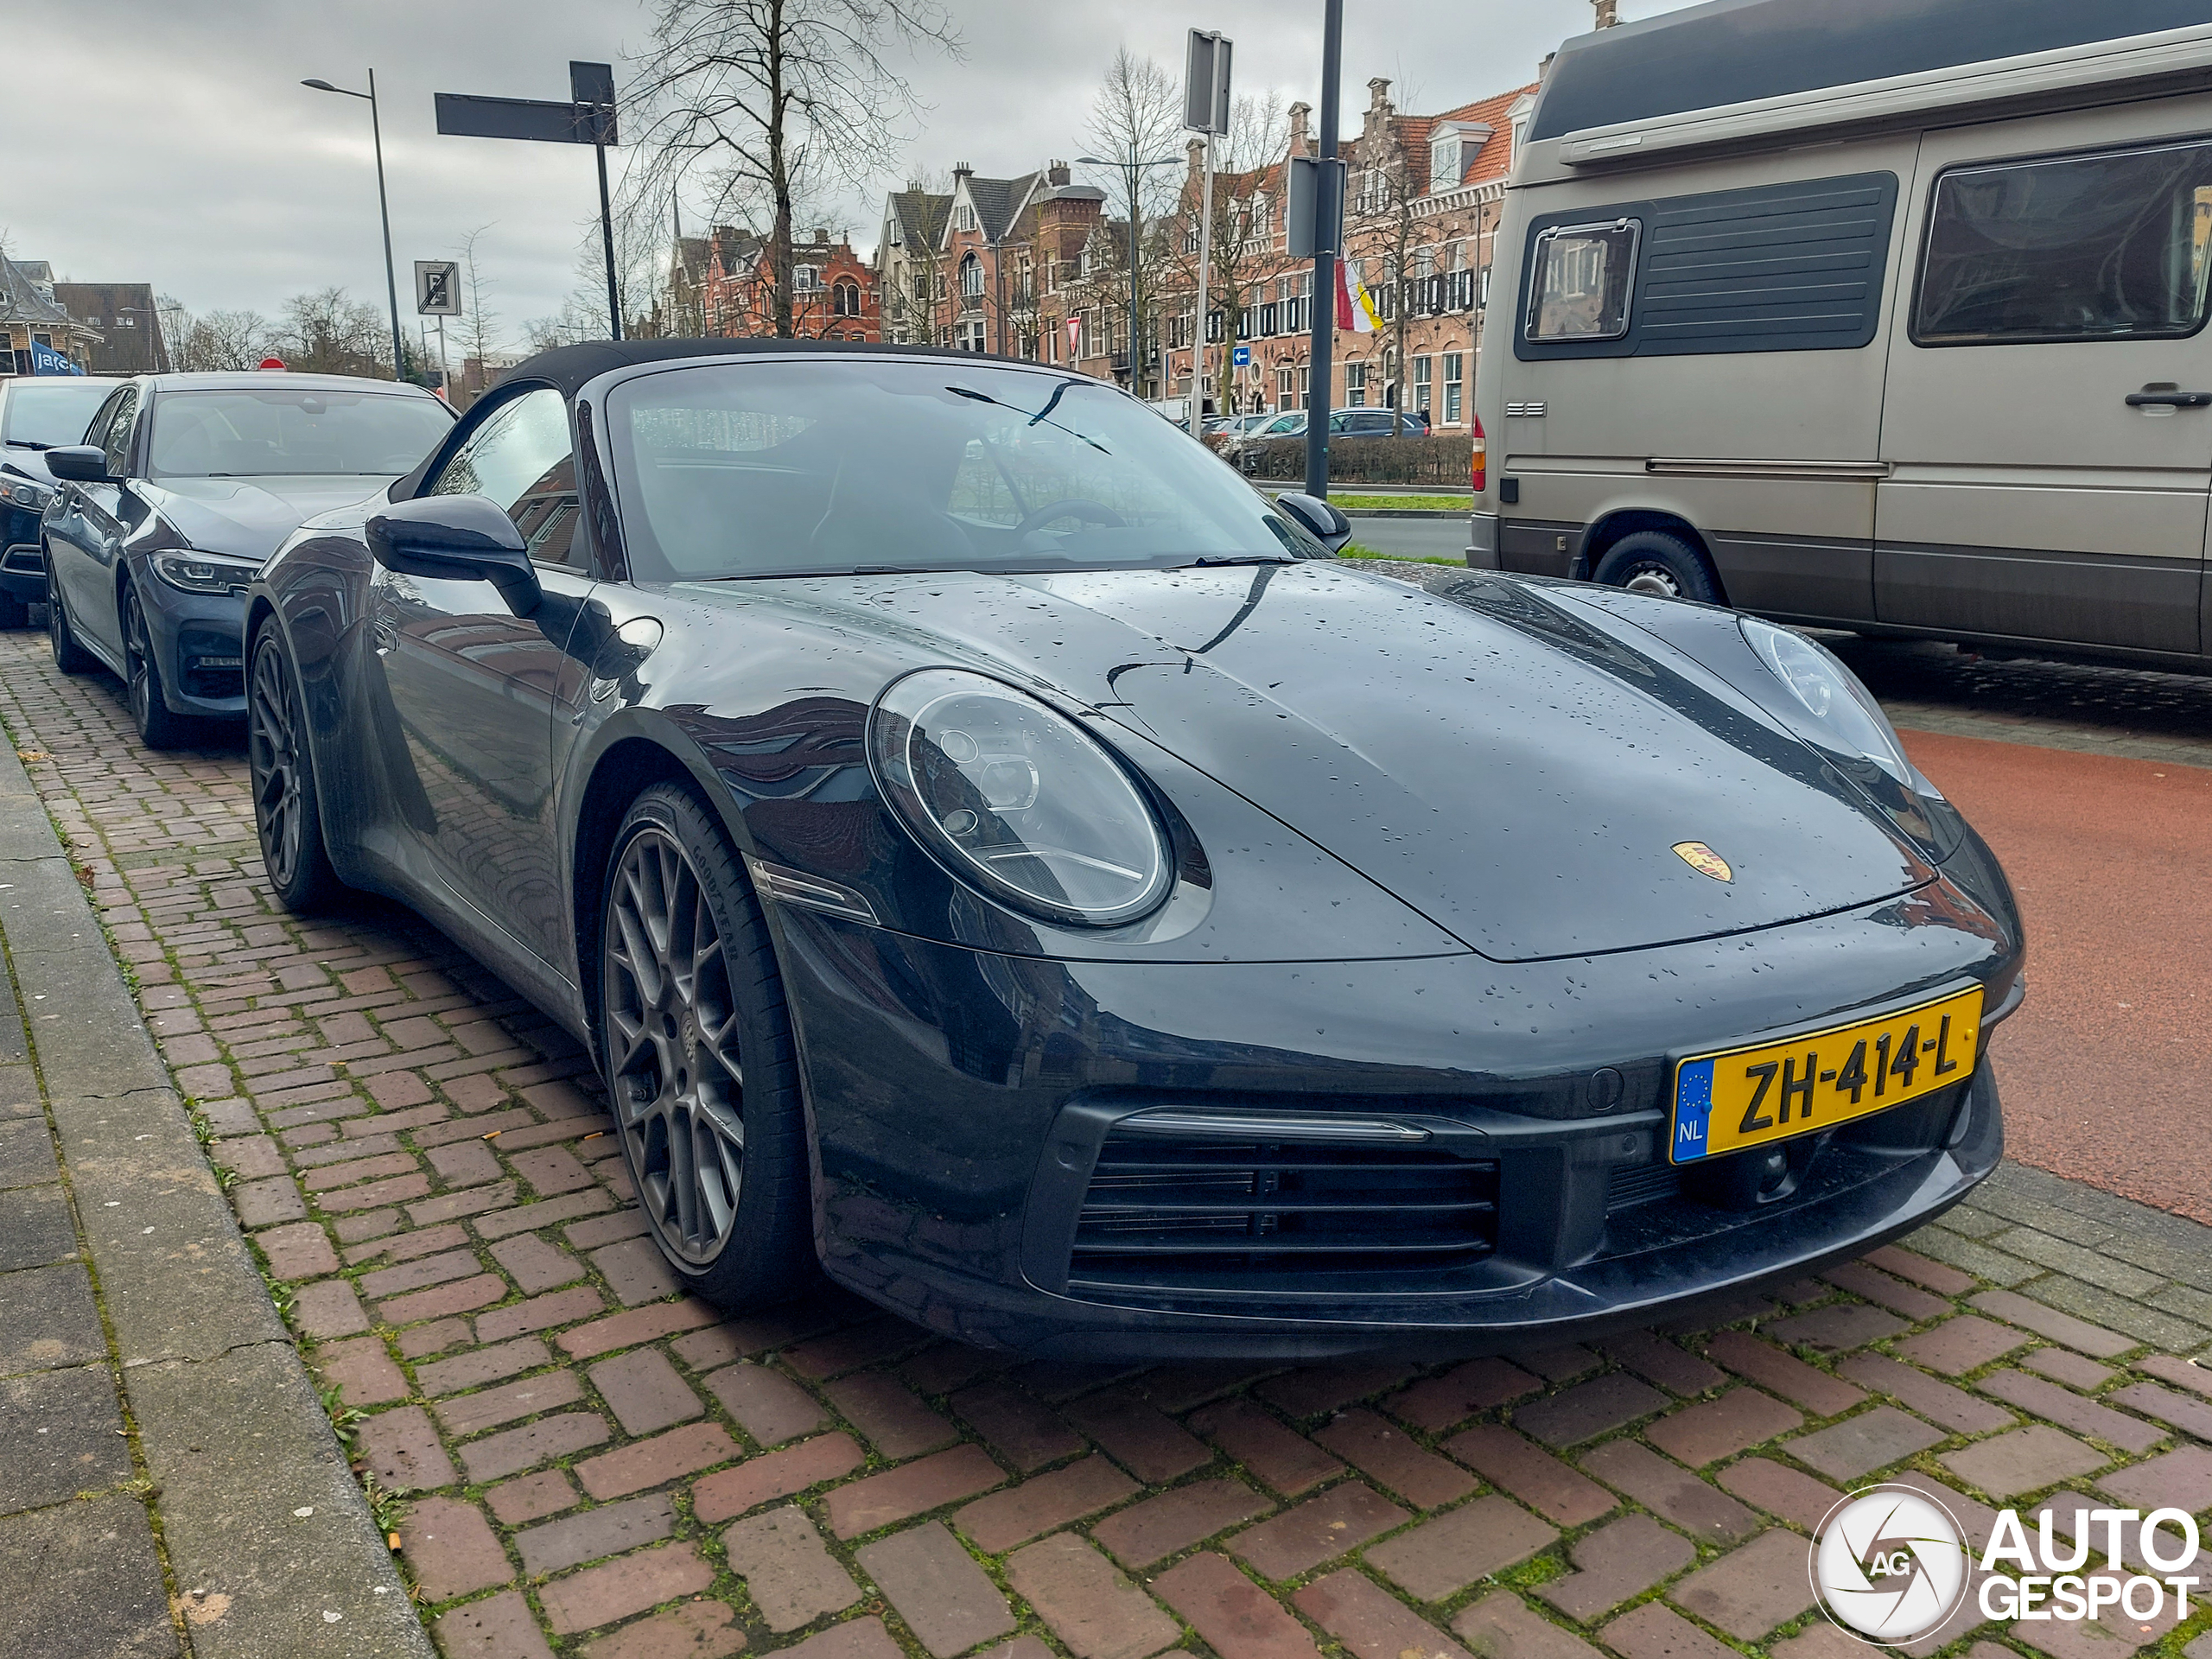
[[[2194,655],[2212,97],[1927,133],[1882,407],[1887,624]]]

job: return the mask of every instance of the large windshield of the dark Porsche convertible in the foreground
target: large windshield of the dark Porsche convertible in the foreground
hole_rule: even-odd
[[[608,398],[641,582],[1327,557],[1099,380],[960,358],[714,363]]]

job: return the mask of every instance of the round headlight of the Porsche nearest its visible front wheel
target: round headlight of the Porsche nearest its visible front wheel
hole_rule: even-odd
[[[1159,816],[1066,714],[960,668],[891,684],[867,723],[885,796],[947,872],[1011,909],[1117,927],[1175,883]]]

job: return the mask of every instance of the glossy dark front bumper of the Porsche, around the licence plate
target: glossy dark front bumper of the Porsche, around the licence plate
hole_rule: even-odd
[[[1663,1164],[1668,1055],[1964,978],[1993,1024],[2020,998],[2000,909],[2004,922],[1938,883],[1571,962],[1133,967],[779,907],[823,1263],[949,1336],[1086,1358],[1471,1354],[1741,1296],[1964,1197],[2002,1155],[1997,1088],[1984,1066],[1801,1141],[1818,1150],[1796,1192],[1732,1210]],[[1177,1146],[1161,1115],[1194,1135]],[[1230,1146],[1254,1115],[1274,1126]],[[1360,1210],[1354,1232],[1303,1261],[1296,1239],[1208,1239],[1250,1221],[1256,1241],[1276,1225],[1259,1212],[1298,1208],[1250,1194],[1279,1190],[1272,1172],[1312,1148],[1312,1126],[1332,1168],[1316,1177],[1307,1159],[1301,1181],[1354,1192],[1329,1203]],[[1192,1250],[1144,1219],[1175,1206],[1199,1230]]]

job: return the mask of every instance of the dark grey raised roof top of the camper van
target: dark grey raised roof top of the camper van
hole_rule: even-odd
[[[2212,0],[1710,0],[1577,35],[1531,139],[2212,22]]]

